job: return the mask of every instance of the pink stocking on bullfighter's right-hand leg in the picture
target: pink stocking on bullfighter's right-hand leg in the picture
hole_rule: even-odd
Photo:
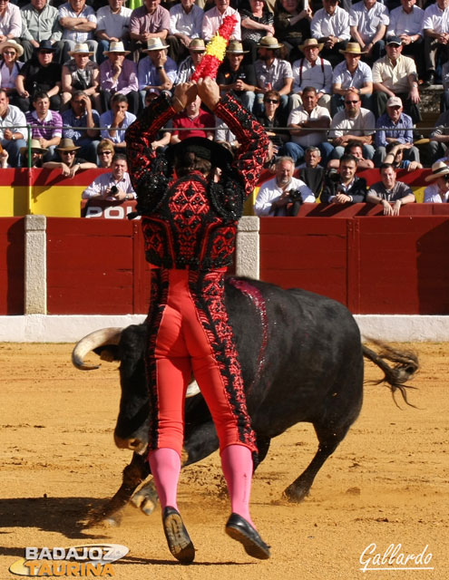
[[[229,445],[221,451],[221,468],[228,484],[230,507],[233,513],[244,517],[251,526],[249,496],[252,479],[252,454],[244,445]]]

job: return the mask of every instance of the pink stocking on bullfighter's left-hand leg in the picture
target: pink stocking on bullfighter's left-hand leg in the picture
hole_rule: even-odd
[[[171,506],[178,509],[178,479],[181,471],[181,458],[174,449],[162,448],[150,451],[151,473],[161,501],[161,509]]]

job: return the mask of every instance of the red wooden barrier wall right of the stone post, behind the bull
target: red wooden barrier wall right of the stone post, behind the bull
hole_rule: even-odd
[[[262,218],[260,278],[354,314],[449,314],[448,245],[444,216]]]

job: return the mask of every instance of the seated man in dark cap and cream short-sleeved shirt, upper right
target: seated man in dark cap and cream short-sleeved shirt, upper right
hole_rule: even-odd
[[[373,84],[373,109],[377,118],[386,111],[386,102],[390,97],[399,97],[414,123],[421,121],[415,61],[402,54],[399,36],[386,39],[386,56],[373,64]]]

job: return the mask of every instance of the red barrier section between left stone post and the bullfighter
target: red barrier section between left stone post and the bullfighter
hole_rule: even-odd
[[[48,314],[143,314],[150,295],[140,222],[47,220]]]

